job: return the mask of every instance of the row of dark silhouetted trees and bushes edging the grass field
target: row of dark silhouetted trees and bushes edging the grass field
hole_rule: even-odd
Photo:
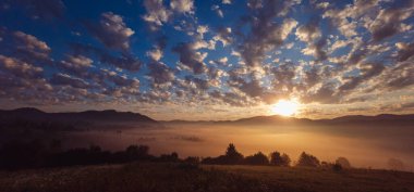
[[[24,169],[40,167],[62,167],[74,165],[97,165],[97,164],[120,164],[135,161],[145,162],[172,162],[216,165],[272,165],[272,166],[340,166],[340,168],[351,167],[346,158],[340,157],[333,164],[320,163],[319,159],[310,154],[303,152],[297,162],[293,165],[290,156],[277,151],[265,155],[257,152],[253,155],[244,156],[238,152],[235,145],[230,143],[223,155],[217,157],[200,158],[190,156],[180,158],[179,154],[161,154],[155,156],[149,154],[147,145],[130,145],[123,151],[105,151],[98,145],[89,148],[61,150],[59,140],[49,143],[41,141],[17,142],[12,141],[2,145],[0,149],[0,169]]]

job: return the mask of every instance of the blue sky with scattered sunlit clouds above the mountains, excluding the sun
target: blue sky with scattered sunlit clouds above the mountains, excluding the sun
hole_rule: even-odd
[[[0,0],[0,106],[414,113],[413,0]]]

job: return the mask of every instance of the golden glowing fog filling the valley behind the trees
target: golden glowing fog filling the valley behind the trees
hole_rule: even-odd
[[[129,128],[70,132],[68,148],[100,145],[123,150],[130,144],[146,144],[150,153],[178,152],[180,157],[218,156],[229,143],[244,155],[258,151],[287,153],[296,161],[303,151],[320,161],[349,158],[352,166],[388,168],[389,158],[401,159],[407,170],[414,166],[414,128],[361,126],[240,126],[215,124],[170,124],[158,128]]]

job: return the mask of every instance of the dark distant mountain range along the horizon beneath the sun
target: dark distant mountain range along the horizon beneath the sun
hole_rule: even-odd
[[[249,118],[241,118],[236,120],[169,120],[157,121],[148,116],[139,113],[132,112],[117,112],[114,110],[106,111],[85,111],[85,112],[71,112],[71,113],[46,113],[33,107],[24,107],[16,110],[0,110],[0,120],[7,121],[10,119],[24,119],[24,120],[53,120],[64,123],[134,123],[134,124],[234,124],[234,125],[283,125],[283,124],[307,124],[307,125],[338,125],[338,124],[405,124],[414,125],[414,115],[392,115],[381,114],[376,116],[351,115],[342,116],[332,119],[308,119],[308,118],[294,118],[283,116],[255,116]]]

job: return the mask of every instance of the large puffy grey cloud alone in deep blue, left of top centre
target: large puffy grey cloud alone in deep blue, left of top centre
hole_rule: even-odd
[[[99,25],[88,28],[107,48],[120,50],[130,49],[130,37],[135,33],[125,25],[122,16],[112,12],[102,13]]]

